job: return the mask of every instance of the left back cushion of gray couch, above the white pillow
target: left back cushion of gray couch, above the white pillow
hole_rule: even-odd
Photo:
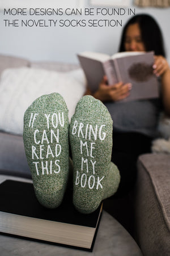
[[[29,66],[30,62],[24,58],[0,55],[0,75],[3,70],[7,68],[20,68],[22,66]]]

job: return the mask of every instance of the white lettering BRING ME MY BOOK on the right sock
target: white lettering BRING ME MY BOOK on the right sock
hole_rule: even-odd
[[[76,171],[76,181],[75,185],[79,185],[82,188],[88,187],[90,190],[92,189],[103,189],[103,179],[99,176],[95,176],[95,168],[96,168],[96,162],[97,160],[92,158],[100,157],[96,156],[95,149],[96,149],[96,141],[97,139],[100,141],[105,140],[105,137],[107,135],[107,132],[104,131],[104,127],[106,127],[105,124],[102,124],[100,126],[92,125],[92,124],[86,124],[86,126],[83,123],[78,123],[77,120],[74,121],[73,129],[72,129],[72,135],[76,135],[78,138],[85,138],[85,140],[88,141],[80,141],[80,155],[83,155],[81,160],[81,171],[83,171],[82,174],[79,173],[79,171]],[[84,157],[87,156],[87,157]],[[89,165],[89,162],[91,162],[91,166]],[[86,173],[85,173],[86,172]],[[88,177],[87,173],[92,172],[93,175],[90,175]]]

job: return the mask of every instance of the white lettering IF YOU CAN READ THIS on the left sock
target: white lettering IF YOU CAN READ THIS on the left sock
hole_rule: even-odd
[[[36,120],[36,116],[38,114],[31,114],[29,120],[29,127],[33,127],[33,123]],[[58,115],[58,116],[57,116]],[[43,118],[43,117],[42,117]],[[55,160],[58,156],[60,156],[62,152],[62,146],[59,144],[59,129],[56,129],[58,125],[64,127],[64,112],[60,112],[58,114],[44,114],[44,119],[46,122],[46,129],[39,130],[35,129],[33,132],[33,140],[35,145],[31,146],[32,150],[32,160],[34,160],[33,166],[35,166],[36,174],[41,175],[49,175],[49,174],[58,174],[61,171],[61,167],[59,165],[60,160]],[[50,129],[50,125],[55,129]],[[56,142],[56,144],[54,144]],[[53,146],[52,146],[53,145]],[[45,158],[46,161],[43,161]],[[49,160],[48,160],[49,158]],[[54,160],[52,160],[54,158]],[[35,159],[41,159],[41,162],[35,162]]]

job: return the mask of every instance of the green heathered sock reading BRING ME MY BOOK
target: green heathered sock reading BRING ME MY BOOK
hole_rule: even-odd
[[[107,108],[92,96],[83,96],[70,124],[73,156],[73,203],[82,213],[94,212],[113,195],[120,183],[111,162],[113,121]]]

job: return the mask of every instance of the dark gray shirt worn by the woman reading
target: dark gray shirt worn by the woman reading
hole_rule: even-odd
[[[112,116],[113,132],[139,132],[151,137],[158,136],[159,99],[104,104]]]

